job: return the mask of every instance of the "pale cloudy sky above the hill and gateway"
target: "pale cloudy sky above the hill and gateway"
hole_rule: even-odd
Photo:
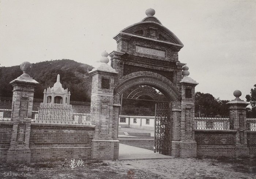
[[[256,0],[0,0],[0,67],[71,59],[94,65],[148,8],[184,44],[196,91],[241,99],[256,84]]]

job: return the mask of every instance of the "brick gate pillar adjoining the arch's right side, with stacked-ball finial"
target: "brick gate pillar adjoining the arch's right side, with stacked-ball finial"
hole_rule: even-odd
[[[180,157],[196,157],[195,141],[195,80],[188,77],[188,67],[182,67]]]

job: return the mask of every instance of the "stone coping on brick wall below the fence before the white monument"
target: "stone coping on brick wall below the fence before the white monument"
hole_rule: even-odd
[[[56,128],[83,128],[83,129],[94,129],[95,125],[84,125],[84,124],[54,124],[54,123],[31,123],[31,127],[56,127]]]

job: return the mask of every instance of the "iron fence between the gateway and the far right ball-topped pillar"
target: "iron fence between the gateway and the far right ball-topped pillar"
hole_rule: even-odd
[[[195,129],[233,130],[234,119],[230,118],[195,118]]]

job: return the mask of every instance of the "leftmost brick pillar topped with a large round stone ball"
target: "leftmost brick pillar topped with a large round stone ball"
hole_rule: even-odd
[[[7,152],[7,163],[30,163],[30,125],[34,88],[38,84],[29,76],[31,63],[25,61],[20,65],[23,74],[10,82],[13,86],[12,116],[13,126],[10,148]]]

